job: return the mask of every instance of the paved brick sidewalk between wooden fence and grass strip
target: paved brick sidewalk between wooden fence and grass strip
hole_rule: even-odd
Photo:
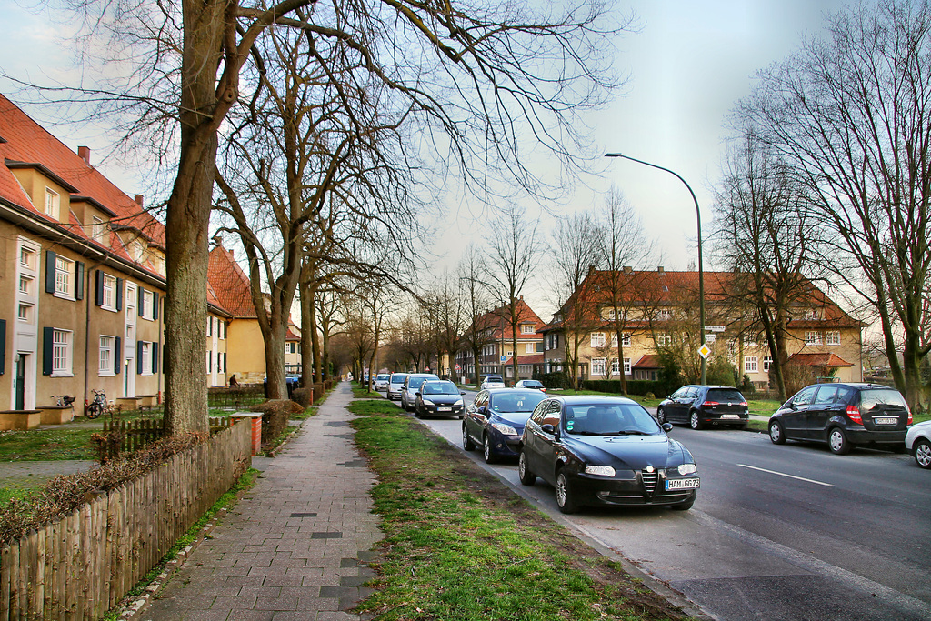
[[[344,611],[368,594],[366,561],[383,535],[371,513],[375,477],[352,441],[351,399],[349,384],[338,385],[137,618],[359,618]]]

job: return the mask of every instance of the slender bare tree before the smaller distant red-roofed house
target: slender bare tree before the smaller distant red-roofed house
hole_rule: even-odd
[[[533,276],[540,255],[537,239],[537,222],[530,222],[526,209],[510,205],[492,223],[489,240],[491,252],[487,259],[487,284],[492,295],[506,296],[501,307],[502,318],[511,331],[511,367],[514,381],[518,380],[518,327],[520,325],[521,295],[527,281]]]

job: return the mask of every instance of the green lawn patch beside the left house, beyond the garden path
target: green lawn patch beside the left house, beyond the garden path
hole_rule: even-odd
[[[91,434],[98,428],[62,425],[58,429],[0,432],[0,462],[95,459]]]

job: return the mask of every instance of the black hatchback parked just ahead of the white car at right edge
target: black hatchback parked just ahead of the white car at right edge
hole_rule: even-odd
[[[857,445],[902,451],[911,411],[895,388],[879,384],[805,386],[769,418],[769,439],[827,442],[843,455]]]

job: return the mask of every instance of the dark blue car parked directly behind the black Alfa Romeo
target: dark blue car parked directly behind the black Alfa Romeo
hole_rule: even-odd
[[[533,408],[545,398],[544,393],[533,388],[482,390],[466,407],[463,448],[475,451],[482,447],[489,464],[501,457],[517,457],[524,425]]]

